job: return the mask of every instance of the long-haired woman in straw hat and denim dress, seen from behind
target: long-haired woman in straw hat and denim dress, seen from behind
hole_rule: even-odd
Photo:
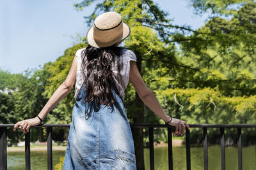
[[[164,113],[136,67],[136,55],[118,45],[130,28],[116,12],[99,15],[89,29],[88,46],[77,50],[66,80],[37,117],[17,122],[24,133],[40,124],[75,85],[76,103],[68,133],[63,169],[136,169],[134,141],[125,105],[129,81],[150,110],[183,135],[189,125]]]

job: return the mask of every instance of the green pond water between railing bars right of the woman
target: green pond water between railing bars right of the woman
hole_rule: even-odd
[[[248,146],[242,149],[243,169],[256,169],[256,146]],[[204,169],[204,147],[192,147],[191,153],[191,169]],[[149,148],[144,150],[145,169],[149,166]],[[154,148],[155,169],[168,169],[168,148]],[[226,170],[238,169],[238,153],[237,147],[225,148]],[[173,147],[173,169],[186,169],[186,146]],[[221,169],[221,147],[219,145],[208,146],[208,169]]]

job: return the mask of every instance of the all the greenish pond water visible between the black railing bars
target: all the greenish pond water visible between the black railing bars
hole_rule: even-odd
[[[256,146],[243,147],[243,169],[256,169]],[[192,147],[191,152],[191,169],[204,169],[204,148]],[[60,157],[65,155],[65,150],[52,151],[53,169],[60,162]],[[226,169],[238,169],[237,164],[237,147],[226,147]],[[47,151],[31,151],[31,169],[47,169]],[[144,149],[145,169],[149,167],[149,148]],[[168,169],[168,148],[154,148],[155,169]],[[221,169],[221,148],[218,145],[208,147],[208,163],[209,170]],[[25,153],[24,152],[8,152],[7,153],[8,170],[25,169]],[[186,169],[186,148],[185,146],[173,146],[173,169]]]

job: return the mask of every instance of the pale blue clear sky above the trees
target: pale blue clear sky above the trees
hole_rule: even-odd
[[[37,69],[54,62],[76,44],[77,35],[88,28],[84,16],[92,6],[77,11],[74,3],[82,0],[0,0],[0,67],[10,73]],[[160,8],[170,13],[173,24],[193,29],[205,23],[206,15],[193,15],[188,0],[158,0]]]

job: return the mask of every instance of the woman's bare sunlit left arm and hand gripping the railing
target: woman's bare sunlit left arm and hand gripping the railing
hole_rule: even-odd
[[[61,83],[60,87],[52,94],[51,98],[47,103],[45,104],[44,108],[38,113],[38,116],[44,120],[44,118],[47,116],[47,114],[58,104],[60,101],[67,96],[67,94],[72,89],[75,81],[76,81],[76,70],[77,70],[77,56],[75,55],[72,66],[70,67],[70,71],[67,75],[66,80]],[[23,128],[19,125],[23,124]],[[23,131],[24,133],[29,132],[29,128],[31,126],[35,126],[40,124],[40,120],[38,117],[30,118],[27,120],[22,120],[20,122],[17,122],[14,127],[13,131],[16,130],[16,128],[19,126],[20,131]]]

